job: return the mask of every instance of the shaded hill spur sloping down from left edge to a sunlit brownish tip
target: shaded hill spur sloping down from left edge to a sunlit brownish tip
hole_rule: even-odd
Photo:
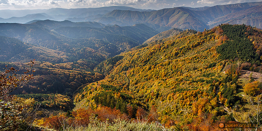
[[[63,63],[69,61],[70,54],[54,51],[24,43],[18,39],[0,36],[0,61],[2,62],[29,62],[32,59]]]

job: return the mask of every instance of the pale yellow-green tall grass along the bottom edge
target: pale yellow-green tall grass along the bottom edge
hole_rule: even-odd
[[[130,122],[123,120],[115,120],[114,123],[95,122],[87,127],[67,127],[65,131],[176,131],[181,130],[179,127],[171,127],[166,129],[158,122]]]

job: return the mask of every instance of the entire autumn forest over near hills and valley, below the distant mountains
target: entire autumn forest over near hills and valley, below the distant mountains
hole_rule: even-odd
[[[3,131],[262,127],[262,30],[254,26],[0,23],[0,48]]]

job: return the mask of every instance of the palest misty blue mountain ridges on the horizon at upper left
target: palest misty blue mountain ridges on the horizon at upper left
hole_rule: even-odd
[[[0,10],[0,23],[27,23],[36,19],[64,21],[67,18],[87,17],[98,14],[106,14],[115,9],[131,11],[154,11],[151,9],[136,9],[127,6],[109,6],[99,8],[77,8],[77,9],[33,9],[33,10]],[[79,21],[77,21],[79,22]]]

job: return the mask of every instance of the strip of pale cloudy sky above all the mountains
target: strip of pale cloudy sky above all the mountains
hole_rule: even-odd
[[[140,9],[163,9],[179,6],[203,7],[262,0],[0,0],[1,9],[89,8],[130,6]]]

